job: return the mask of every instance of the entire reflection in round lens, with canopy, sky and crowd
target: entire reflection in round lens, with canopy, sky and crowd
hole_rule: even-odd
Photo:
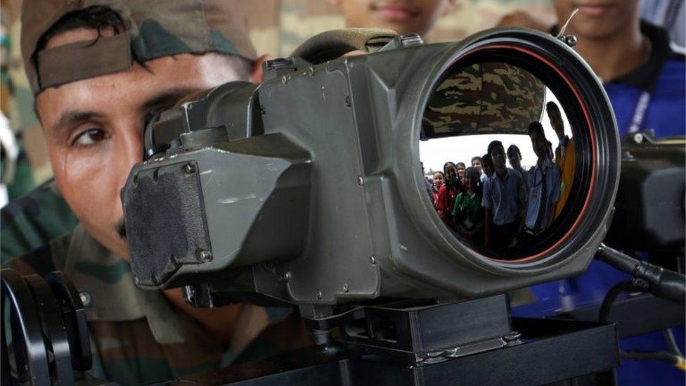
[[[422,131],[432,201],[456,238],[489,257],[521,259],[562,226],[555,219],[569,200],[576,149],[564,108],[536,76],[507,63],[460,67],[436,86]]]

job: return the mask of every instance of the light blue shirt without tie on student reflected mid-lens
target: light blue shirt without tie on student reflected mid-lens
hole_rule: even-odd
[[[508,167],[504,180],[497,173],[486,179],[481,206],[491,208],[493,224],[510,224],[519,217],[519,200],[524,200],[523,194],[522,176]]]

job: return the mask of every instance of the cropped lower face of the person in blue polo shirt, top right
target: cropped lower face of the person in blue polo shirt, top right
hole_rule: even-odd
[[[638,6],[638,0],[555,0],[559,25],[579,8],[565,33],[587,39],[611,37],[631,23],[638,25]]]

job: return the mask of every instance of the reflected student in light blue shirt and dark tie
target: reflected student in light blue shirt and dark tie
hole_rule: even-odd
[[[533,153],[538,160],[536,165],[526,173],[526,219],[524,233],[536,236],[548,228],[554,218],[555,203],[559,199],[559,167],[550,160],[548,140],[545,139],[543,126],[539,122],[529,124],[529,138]]]

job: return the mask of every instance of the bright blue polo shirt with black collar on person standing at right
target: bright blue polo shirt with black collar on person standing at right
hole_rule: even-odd
[[[614,110],[619,134],[624,136],[630,127],[640,95],[649,91],[645,119],[641,129],[652,129],[656,138],[686,135],[686,63],[682,52],[670,46],[667,32],[641,22],[642,34],[650,40],[652,51],[646,63],[628,75],[604,84]],[[630,278],[603,262],[593,261],[588,270],[575,278],[534,285],[531,290],[539,300],[560,295],[578,297],[595,295],[602,299],[607,290]],[[683,328],[673,329],[683,349]],[[624,350],[665,350],[661,332],[621,340]],[[661,361],[622,361],[617,371],[619,385],[684,385],[685,375]]]

